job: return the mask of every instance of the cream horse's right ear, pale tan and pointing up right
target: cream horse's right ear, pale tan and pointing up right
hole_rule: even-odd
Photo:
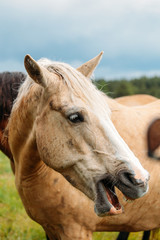
[[[91,77],[93,74],[95,68],[99,64],[101,58],[102,58],[103,52],[100,52],[95,58],[92,58],[88,62],[82,64],[77,70],[81,72],[85,77]]]

